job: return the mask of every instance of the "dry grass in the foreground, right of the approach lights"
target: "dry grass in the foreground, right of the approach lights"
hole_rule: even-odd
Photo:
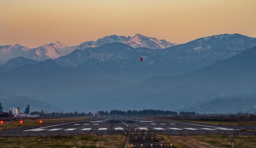
[[[198,136],[161,136],[165,145],[173,145],[173,148],[230,148],[232,135],[198,135]],[[256,148],[256,136],[236,136],[234,148]]]

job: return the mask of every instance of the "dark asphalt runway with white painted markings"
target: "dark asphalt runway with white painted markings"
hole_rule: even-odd
[[[159,120],[146,120],[135,117],[104,117],[70,123],[54,123],[49,125],[36,125],[24,128],[0,130],[0,136],[12,135],[61,135],[61,134],[168,134],[168,135],[212,135],[229,134],[234,132],[243,135],[255,135],[244,129],[256,129],[256,126],[246,125],[210,125],[200,123],[182,123]]]

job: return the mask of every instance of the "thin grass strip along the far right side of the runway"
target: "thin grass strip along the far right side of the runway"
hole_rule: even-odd
[[[197,119],[169,119],[169,118],[147,118],[151,120],[163,120],[163,121],[173,121],[173,122],[186,122],[186,123],[203,123],[203,124],[215,124],[215,125],[256,125],[255,121],[214,121],[214,120],[197,120]]]

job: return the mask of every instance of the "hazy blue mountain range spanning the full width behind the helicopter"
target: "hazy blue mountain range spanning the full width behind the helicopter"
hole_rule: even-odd
[[[10,59],[0,66],[0,90],[68,111],[177,110],[256,93],[256,38],[213,35],[164,49],[132,47],[120,43],[122,38],[127,40],[111,35],[90,44],[38,48],[56,48],[57,53],[61,47],[59,58],[44,55],[54,60]],[[114,39],[120,42],[112,43]]]

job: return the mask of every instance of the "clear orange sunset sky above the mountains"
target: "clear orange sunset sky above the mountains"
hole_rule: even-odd
[[[186,43],[224,33],[256,37],[256,0],[0,0],[0,45],[79,45],[135,33]]]

